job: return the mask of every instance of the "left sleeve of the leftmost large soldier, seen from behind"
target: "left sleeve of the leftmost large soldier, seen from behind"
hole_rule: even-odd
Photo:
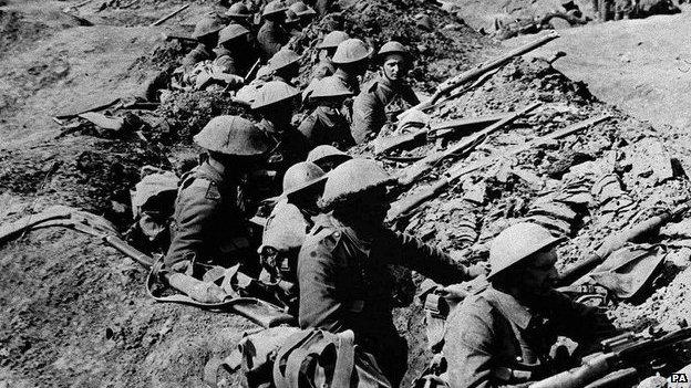
[[[196,183],[196,182],[195,182]],[[199,255],[205,243],[204,235],[213,224],[218,200],[207,198],[208,187],[193,183],[181,193],[174,223],[174,235],[165,256],[167,268]],[[206,243],[209,243],[208,241]]]

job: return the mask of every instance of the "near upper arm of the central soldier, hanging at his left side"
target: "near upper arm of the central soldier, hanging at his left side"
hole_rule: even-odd
[[[343,303],[336,295],[336,263],[332,252],[306,243],[298,259],[300,327],[339,332],[344,326]]]

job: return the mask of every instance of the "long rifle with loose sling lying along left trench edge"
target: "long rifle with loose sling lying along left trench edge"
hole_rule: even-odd
[[[183,273],[162,271],[161,260],[155,261],[153,258],[130,245],[117,237],[117,231],[110,221],[86,211],[80,211],[63,206],[50,208],[40,214],[25,217],[1,228],[0,230],[4,230],[4,233],[0,235],[0,241],[14,237],[29,228],[39,229],[49,227],[70,228],[93,235],[124,253],[144,268],[152,269],[147,279],[147,291],[157,302],[183,303],[213,311],[231,312],[264,327],[272,327],[295,322],[293,316],[269,302],[255,297],[237,297],[228,294],[226,290],[214,283],[203,282]],[[249,276],[237,271],[235,272],[238,276],[249,279]],[[153,295],[151,292],[152,287],[158,280],[163,280],[166,285],[185,295]]]

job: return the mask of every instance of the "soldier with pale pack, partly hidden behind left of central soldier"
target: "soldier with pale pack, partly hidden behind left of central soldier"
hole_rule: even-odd
[[[324,180],[324,171],[309,161],[296,164],[286,171],[281,200],[267,219],[259,248],[265,282],[268,280],[278,286],[278,298],[286,302],[292,314],[298,313],[298,253],[314,224],[312,218],[319,214],[317,200]]]

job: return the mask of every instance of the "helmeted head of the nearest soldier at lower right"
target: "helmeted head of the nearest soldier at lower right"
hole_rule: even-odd
[[[539,295],[557,279],[555,248],[564,239],[536,223],[520,222],[499,233],[489,249],[489,282],[515,296]]]

